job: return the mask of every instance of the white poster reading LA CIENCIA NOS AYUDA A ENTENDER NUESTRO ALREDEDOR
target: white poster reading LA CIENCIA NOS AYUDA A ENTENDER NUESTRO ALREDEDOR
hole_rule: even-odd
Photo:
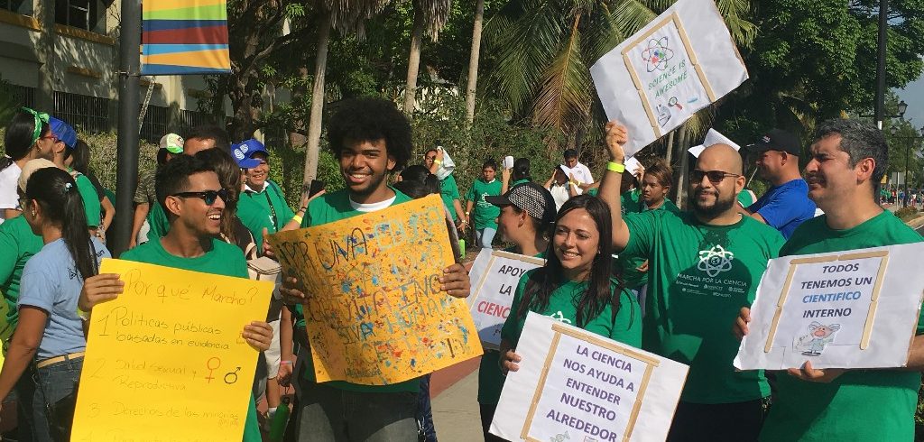
[[[529,313],[491,433],[525,441],[663,441],[687,365]]]

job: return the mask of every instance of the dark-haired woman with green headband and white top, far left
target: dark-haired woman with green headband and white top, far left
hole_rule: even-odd
[[[51,160],[55,156],[54,147],[55,136],[51,134],[47,113],[24,107],[13,116],[4,135],[6,155],[0,157],[0,223],[22,213],[16,192],[22,166],[36,158]]]

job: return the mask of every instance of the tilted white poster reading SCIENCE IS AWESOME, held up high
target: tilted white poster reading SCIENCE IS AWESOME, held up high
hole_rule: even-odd
[[[629,129],[626,156],[748,79],[711,0],[680,0],[603,55],[590,75],[610,120]]]

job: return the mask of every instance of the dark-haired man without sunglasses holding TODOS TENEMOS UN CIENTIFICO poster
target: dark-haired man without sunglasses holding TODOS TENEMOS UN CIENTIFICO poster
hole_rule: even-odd
[[[918,233],[877,202],[889,148],[875,125],[840,118],[823,122],[810,152],[808,197],[825,214],[802,223],[780,255],[921,242]],[[748,333],[749,320],[750,311],[742,308],[736,321],[739,338]],[[916,334],[905,367],[814,369],[807,361],[781,373],[761,440],[914,440],[924,317],[918,319]]]

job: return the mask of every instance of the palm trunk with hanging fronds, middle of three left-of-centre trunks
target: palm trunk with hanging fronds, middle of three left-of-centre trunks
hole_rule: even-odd
[[[408,115],[414,112],[414,99],[417,94],[417,76],[420,68],[420,44],[423,40],[424,27],[436,42],[440,30],[449,20],[452,0],[413,0],[414,27],[410,35],[410,55],[407,57],[407,88],[405,89],[404,111]]]

